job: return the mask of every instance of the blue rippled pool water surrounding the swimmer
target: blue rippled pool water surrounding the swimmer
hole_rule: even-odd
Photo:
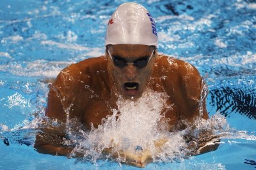
[[[138,169],[38,154],[30,145],[46,106],[45,80],[102,55],[106,24],[124,2],[0,2],[0,169]],[[220,113],[233,129],[214,152],[146,169],[256,169],[256,1],[136,2],[154,16],[159,52],[206,76],[210,116]]]

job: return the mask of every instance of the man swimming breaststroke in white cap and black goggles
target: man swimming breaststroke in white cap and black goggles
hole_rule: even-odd
[[[97,128],[102,118],[113,114],[113,108],[118,109],[118,96],[136,100],[145,89],[151,89],[169,96],[167,104],[173,109],[162,111],[169,121],[168,131],[193,125],[199,116],[202,77],[193,65],[158,55],[157,42],[156,23],[146,8],[136,3],[120,5],[107,25],[105,55],[63,69],[50,85],[45,115],[62,122],[76,118],[90,130],[91,124]],[[202,118],[209,118],[205,100]],[[65,133],[50,134],[60,141],[65,137]],[[156,146],[163,141],[156,141]],[[217,149],[216,143],[206,148],[199,146],[194,155]],[[52,155],[69,155],[73,149],[47,142],[43,132],[36,136],[34,147],[38,152]],[[111,148],[104,152],[117,156]],[[148,152],[120,153],[127,158],[127,164],[138,167],[145,167],[151,160]]]

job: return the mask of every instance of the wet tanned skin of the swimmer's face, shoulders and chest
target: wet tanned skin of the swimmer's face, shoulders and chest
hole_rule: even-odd
[[[173,109],[162,111],[169,122],[167,130],[186,128],[186,124],[181,121],[186,121],[187,125],[193,124],[199,116],[199,100],[203,88],[199,72],[189,63],[157,55],[154,49],[146,45],[111,45],[107,46],[105,56],[71,64],[60,72],[50,86],[45,115],[66,122],[69,113],[70,119],[77,118],[87,129],[90,129],[90,123],[97,128],[102,118],[112,114],[111,109],[117,109],[119,95],[127,99],[133,97],[135,100],[149,88],[158,92],[165,91],[169,95],[167,104]],[[151,54],[153,56],[145,67],[138,68],[133,64]],[[110,55],[121,57],[128,64],[124,67],[115,66]],[[131,83],[129,87],[127,83]],[[205,101],[203,118],[209,118]],[[70,149],[61,151],[61,147],[49,146],[40,141],[37,136],[35,148],[39,152],[53,155],[67,155],[70,152]]]

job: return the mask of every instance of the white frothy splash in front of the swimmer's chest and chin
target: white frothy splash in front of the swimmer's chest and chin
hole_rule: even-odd
[[[92,157],[95,161],[101,156],[104,148],[113,151],[129,151],[136,154],[138,147],[151,153],[153,160],[170,161],[179,156],[182,158],[182,149],[186,142],[181,132],[167,132],[166,124],[160,122],[163,108],[167,106],[168,96],[162,92],[147,90],[138,100],[117,101],[118,109],[113,115],[103,120],[98,129],[92,128],[85,140],[79,141],[74,152],[84,152],[85,157]],[[158,143],[158,144],[157,144]],[[161,146],[159,143],[162,143]],[[121,160],[121,158],[117,159]]]

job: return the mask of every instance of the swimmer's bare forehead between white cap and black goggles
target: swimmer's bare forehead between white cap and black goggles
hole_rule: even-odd
[[[150,55],[154,46],[138,45],[138,44],[118,44],[108,46],[108,50],[113,55],[120,55],[122,57],[138,57]]]

